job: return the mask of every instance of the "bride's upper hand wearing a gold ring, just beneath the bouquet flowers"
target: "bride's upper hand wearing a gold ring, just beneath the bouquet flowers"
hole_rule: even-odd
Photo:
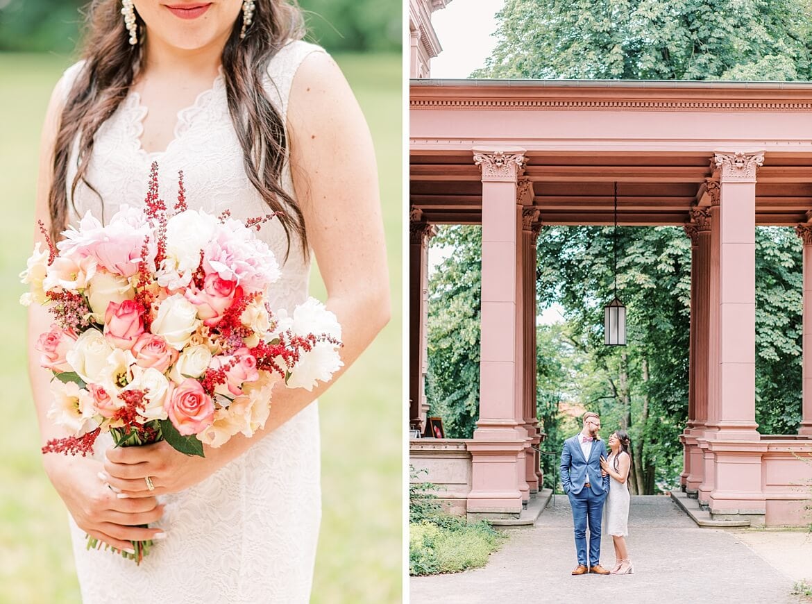
[[[110,485],[131,498],[177,493],[218,470],[214,451],[206,447],[205,458],[184,455],[166,441],[141,447],[110,447],[105,452],[104,470]],[[146,477],[154,490],[149,490]]]

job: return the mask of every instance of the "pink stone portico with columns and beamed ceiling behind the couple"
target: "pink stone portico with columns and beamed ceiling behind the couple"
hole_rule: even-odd
[[[436,4],[436,2],[434,2]],[[421,4],[421,2],[412,2]],[[812,84],[412,80],[409,417],[425,422],[426,247],[482,225],[473,438],[415,439],[458,513],[516,518],[542,476],[535,244],[545,225],[685,227],[692,247],[683,490],[717,520],[808,524],[812,480]],[[803,421],[755,422],[755,227],[804,240]],[[769,404],[769,402],[765,402]]]

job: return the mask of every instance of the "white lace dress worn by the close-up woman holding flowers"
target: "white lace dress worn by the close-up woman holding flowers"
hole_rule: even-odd
[[[324,52],[303,41],[288,44],[268,67],[269,98],[284,115],[293,76],[310,53]],[[80,64],[66,71],[63,90]],[[104,200],[109,219],[119,205],[142,205],[149,166],[160,166],[160,193],[171,206],[178,170],[184,170],[188,205],[211,214],[230,209],[234,218],[267,213],[248,182],[243,151],[227,110],[222,73],[194,106],[179,114],[175,139],[161,153],[140,147],[147,108],[130,93],[96,135],[88,179]],[[71,183],[76,166],[71,166]],[[293,196],[290,170],[283,183]],[[102,217],[102,203],[77,188],[80,214]],[[76,216],[73,216],[76,219]],[[287,239],[279,222],[259,233],[283,261]],[[307,296],[309,261],[293,242],[282,278],[274,287],[274,308],[292,308]],[[97,442],[103,451],[107,442]],[[312,403],[240,458],[200,484],[162,497],[166,511],[158,526],[167,533],[140,566],[104,550],[85,549],[84,532],[71,519],[76,572],[85,604],[109,602],[308,602],[321,520],[320,449],[317,404]]]

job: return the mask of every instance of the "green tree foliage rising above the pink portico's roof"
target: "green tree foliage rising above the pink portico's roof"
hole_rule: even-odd
[[[473,77],[810,80],[809,0],[506,0]]]

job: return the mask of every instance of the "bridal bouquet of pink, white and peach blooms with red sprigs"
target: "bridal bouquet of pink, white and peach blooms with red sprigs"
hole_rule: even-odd
[[[341,367],[341,327],[313,298],[270,308],[279,264],[254,235],[274,215],[240,222],[188,209],[183,174],[174,211],[153,163],[143,209],[103,226],[90,213],[54,246],[37,243],[20,274],[54,316],[36,348],[54,373],[49,417],[72,434],[43,453],[88,455],[102,432],[117,446],[166,440],[203,455],[270,414],[276,382],[312,390]],[[149,541],[134,543],[140,559]],[[89,537],[89,546],[97,546]]]

